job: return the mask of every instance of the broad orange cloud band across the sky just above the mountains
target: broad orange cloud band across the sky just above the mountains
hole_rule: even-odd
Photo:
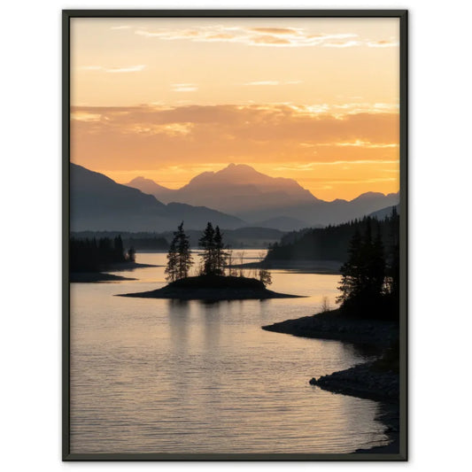
[[[307,166],[398,160],[398,110],[339,114],[290,104],[74,106],[72,118],[73,159],[91,168],[95,160],[128,168],[132,156],[139,156],[141,168],[156,159],[160,166],[225,159]]]

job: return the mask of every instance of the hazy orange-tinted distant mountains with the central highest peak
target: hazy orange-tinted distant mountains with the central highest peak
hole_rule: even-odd
[[[198,174],[178,190],[166,189],[148,179],[135,179],[128,185],[163,202],[205,205],[234,214],[251,225],[266,226],[269,221],[273,228],[282,230],[290,229],[287,219],[293,221],[294,228],[337,224],[398,204],[398,193],[378,192],[367,192],[351,201],[327,202],[314,197],[293,179],[270,177],[243,164]]]

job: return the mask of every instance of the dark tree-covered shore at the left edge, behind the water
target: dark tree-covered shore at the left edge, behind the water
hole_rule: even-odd
[[[71,272],[97,272],[110,264],[135,261],[134,248],[125,251],[121,236],[102,237],[98,240],[75,239],[69,241],[69,268]]]

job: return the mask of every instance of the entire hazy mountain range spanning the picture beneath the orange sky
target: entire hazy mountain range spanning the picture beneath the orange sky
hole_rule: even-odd
[[[224,229],[291,231],[350,221],[398,204],[398,194],[375,192],[327,202],[292,179],[234,164],[198,174],[178,190],[143,177],[120,184],[72,163],[70,182],[72,231],[161,232],[181,221],[186,229],[200,230],[212,221]]]

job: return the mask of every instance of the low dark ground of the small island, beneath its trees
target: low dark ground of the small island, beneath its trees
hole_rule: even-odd
[[[179,300],[247,300],[267,298],[298,298],[267,290],[257,279],[224,275],[198,275],[170,282],[158,290],[139,293],[125,293],[120,297],[135,298],[176,298]]]

